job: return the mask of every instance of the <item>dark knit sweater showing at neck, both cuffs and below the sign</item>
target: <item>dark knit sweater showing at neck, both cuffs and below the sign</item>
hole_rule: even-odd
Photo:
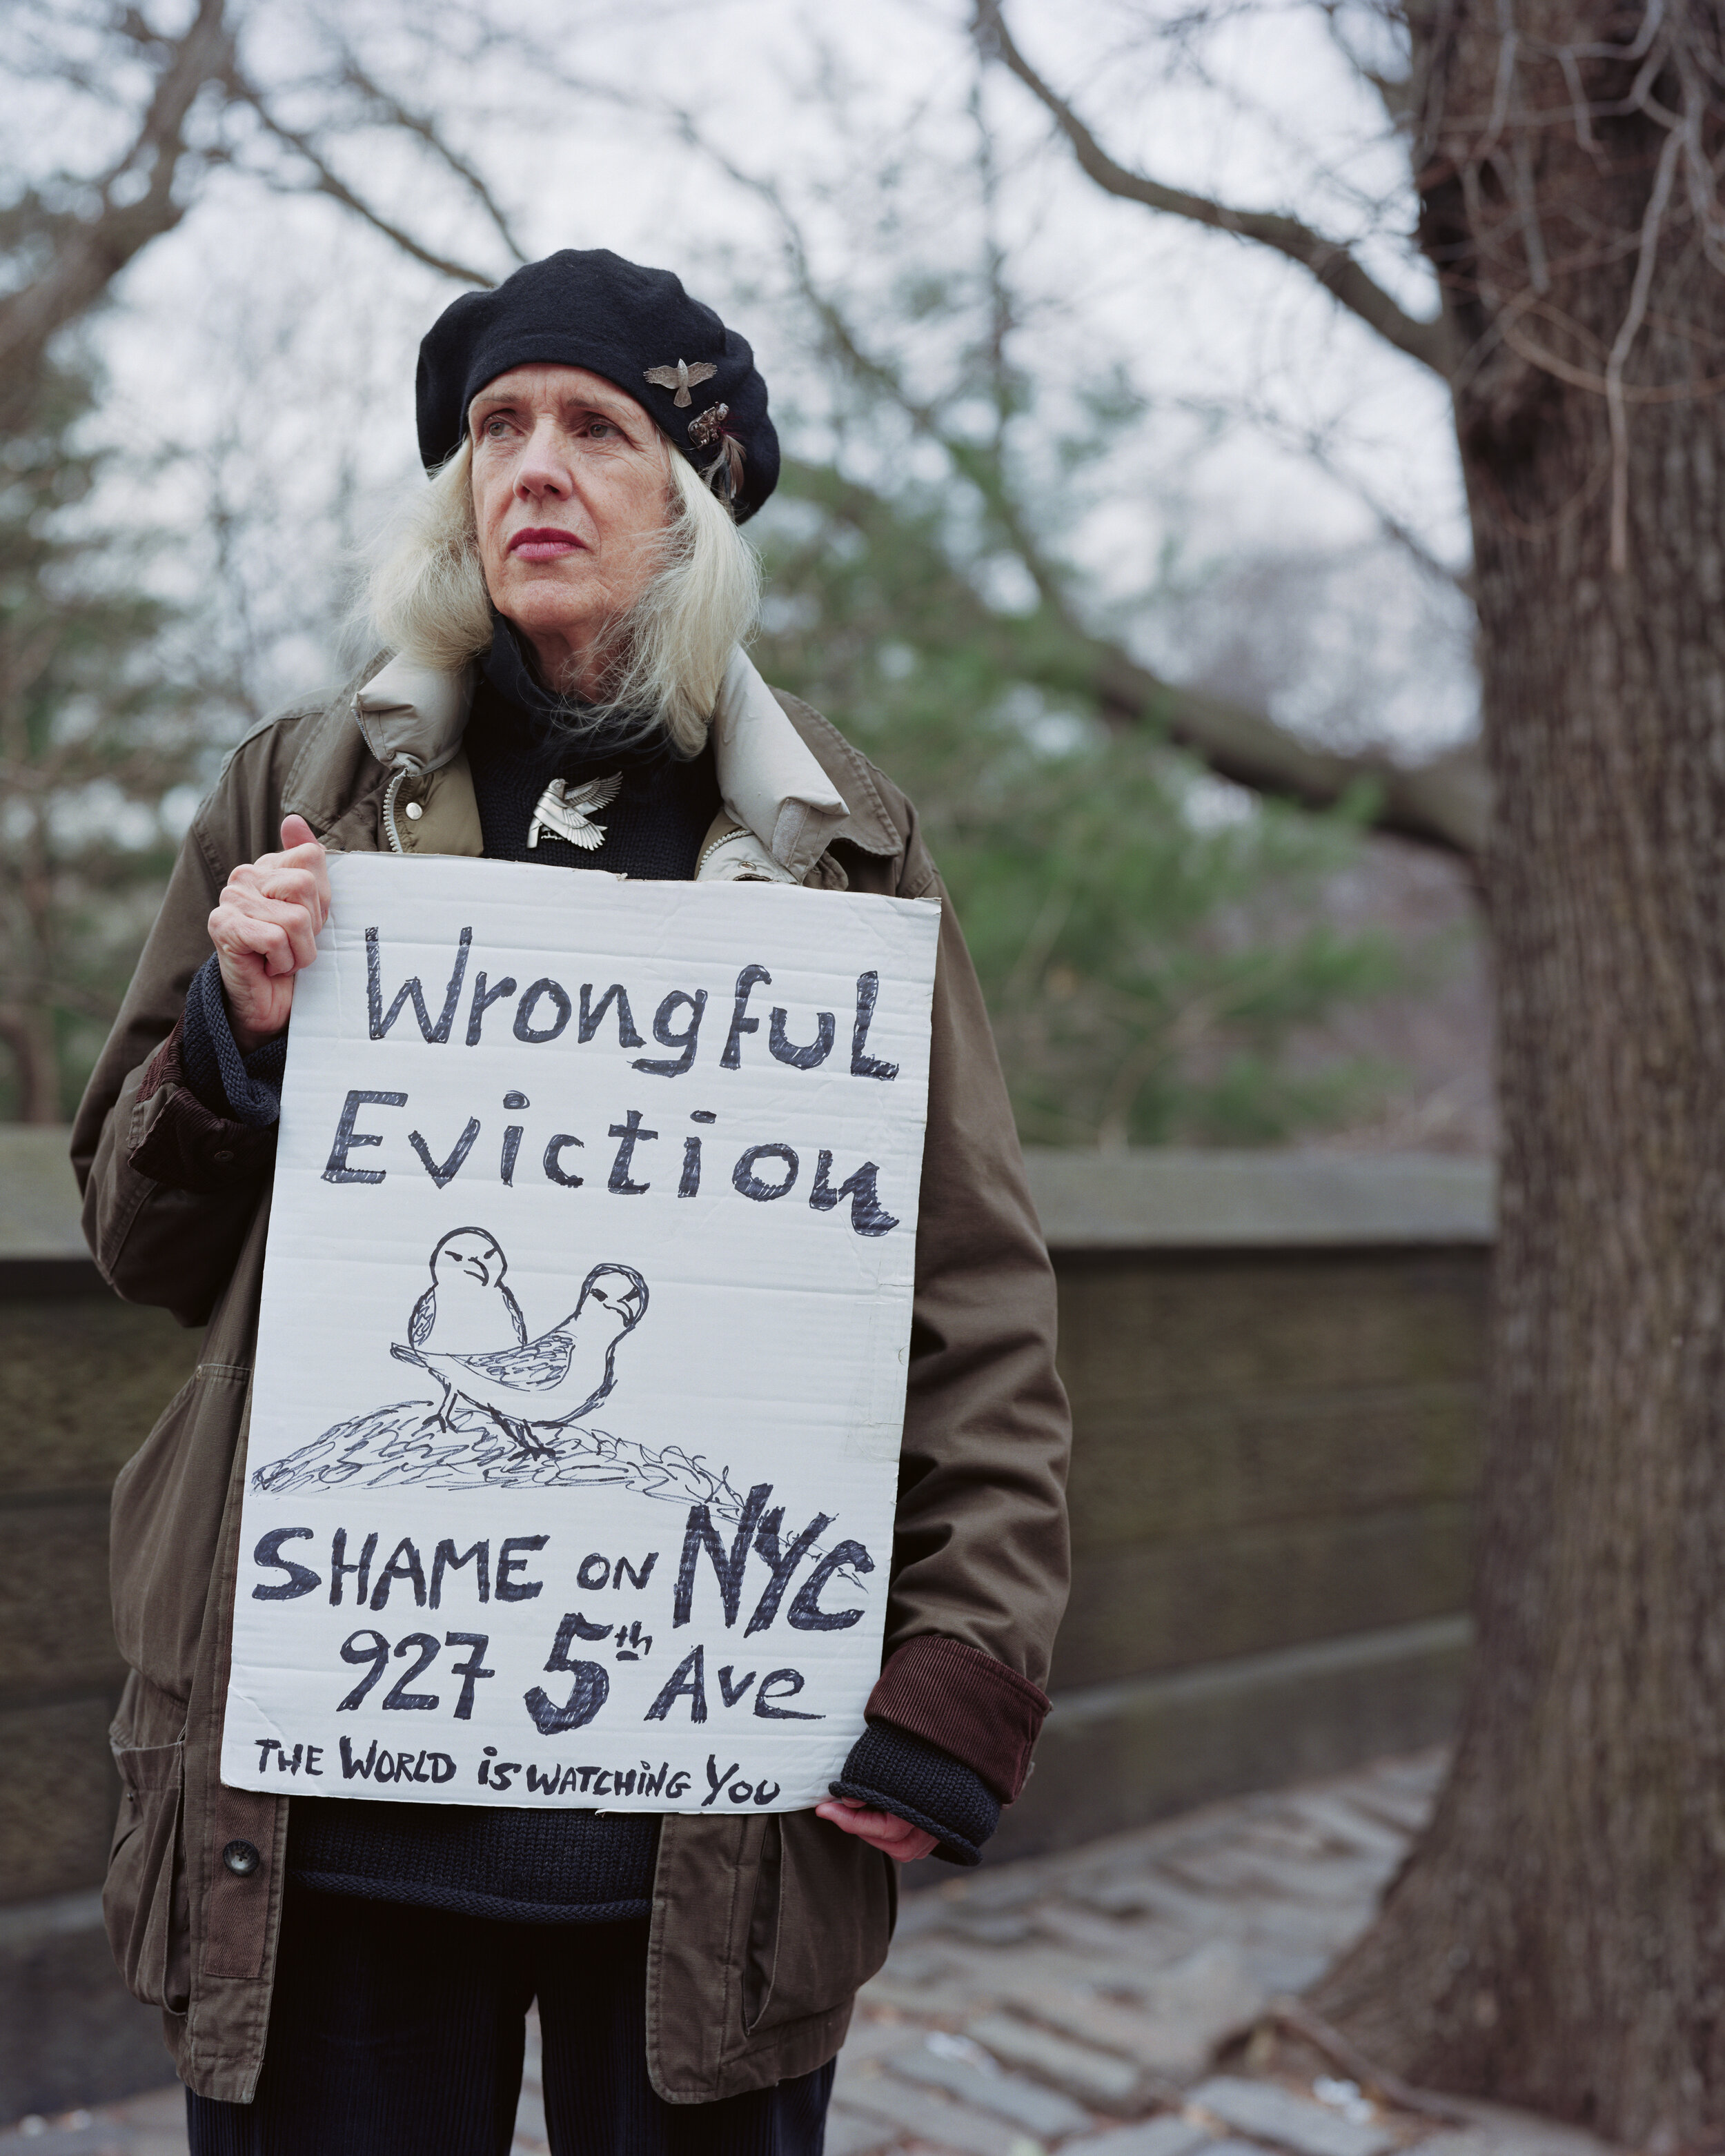
[[[647,882],[694,875],[720,806],[712,746],[686,761],[632,722],[582,722],[578,707],[539,683],[502,621],[464,746],[487,860],[608,869]],[[602,845],[586,852],[543,834],[528,845],[552,778],[576,787],[612,774],[621,787],[595,813]],[[274,1123],[285,1061],[285,1035],[239,1054],[211,955],[185,998],[181,1063],[192,1091],[216,1115]],[[938,1835],[938,1854],[960,1865],[977,1863],[1000,1818],[968,1766],[886,1723],[869,1725],[832,1787]],[[287,1843],[289,1871],[306,1887],[518,1923],[645,1917],[656,1858],[653,1815],[345,1798],[295,1805]]]

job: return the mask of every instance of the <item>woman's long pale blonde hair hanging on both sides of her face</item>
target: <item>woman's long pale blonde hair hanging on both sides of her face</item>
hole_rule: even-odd
[[[755,634],[761,563],[686,457],[664,444],[666,520],[634,606],[606,625],[602,692],[571,707],[578,724],[632,714],[692,757],[707,740],[733,645]],[[492,649],[492,595],[472,511],[464,442],[390,517],[367,563],[360,612],[377,645],[455,671]],[[556,686],[556,683],[552,683]]]

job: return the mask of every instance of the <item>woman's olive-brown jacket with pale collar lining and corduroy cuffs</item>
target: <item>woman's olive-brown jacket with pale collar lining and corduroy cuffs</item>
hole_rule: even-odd
[[[106,1910],[127,1984],[164,2009],[181,2078],[229,2102],[250,2102],[263,2063],[289,1809],[218,1772],[274,1134],[213,1117],[183,1087],[177,1026],[229,869],[278,847],[287,811],[347,852],[483,852],[461,755],[468,701],[466,677],[392,662],[233,752],[73,1130],[108,1283],[207,1326],[194,1376],[114,1488],[114,1632],[132,1675],[112,1731],[123,1798]],[[740,653],[714,740],[724,813],[703,877],[940,890],[910,802]],[[938,1742],[1011,1800],[1065,1604],[1070,1421],[1048,1255],[951,906],[910,1354],[886,1667],[869,1714]],[[261,1865],[224,1867],[233,1841]],[[647,1973],[660,2096],[712,2102],[830,2059],[893,1912],[888,1858],[813,1813],[666,1818]]]

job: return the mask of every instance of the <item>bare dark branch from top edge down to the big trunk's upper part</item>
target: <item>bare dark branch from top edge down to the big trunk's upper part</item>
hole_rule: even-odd
[[[1007,30],[1000,0],[977,0],[972,34],[981,50],[996,56],[1031,95],[1052,114],[1054,125],[1067,138],[1080,168],[1104,194],[1117,194],[1128,203],[1143,203],[1171,218],[1188,218],[1192,224],[1208,224],[1214,231],[1233,233],[1238,239],[1253,239],[1276,254],[1309,270],[1324,291],[1330,293],[1350,315],[1374,328],[1397,351],[1430,367],[1434,375],[1449,379],[1455,364],[1455,345],[1443,315],[1421,319],[1410,315],[1391,293],[1378,285],[1354,259],[1343,239],[1326,239],[1298,218],[1274,209],[1231,209],[1227,203],[1212,203],[1203,194],[1188,194],[1184,188],[1164,188],[1143,172],[1128,172],[1095,140],[1091,129],[1078,119],[1031,67]]]

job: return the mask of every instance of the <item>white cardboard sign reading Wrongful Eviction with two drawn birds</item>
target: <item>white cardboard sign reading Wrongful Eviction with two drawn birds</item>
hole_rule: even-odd
[[[880,1671],[938,906],[330,869],[222,1779],[819,1802]]]

